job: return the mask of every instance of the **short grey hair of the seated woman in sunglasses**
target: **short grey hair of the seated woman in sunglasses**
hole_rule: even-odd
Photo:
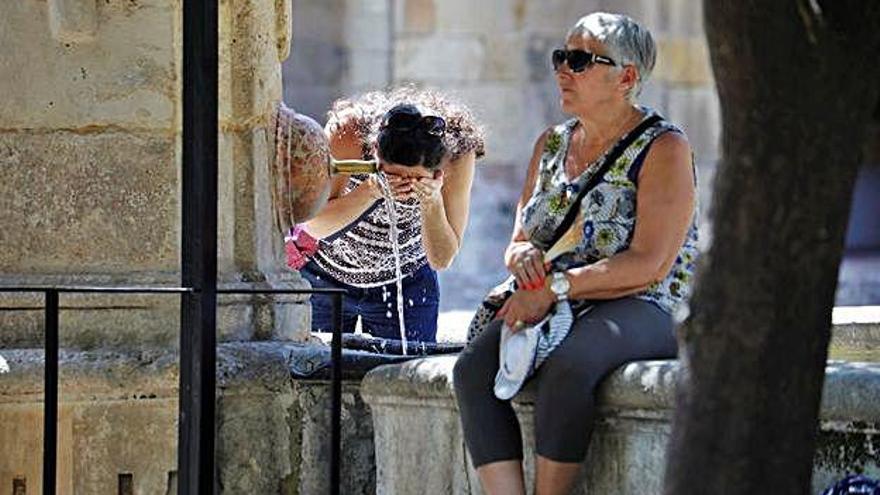
[[[591,37],[605,45],[608,56],[622,68],[633,65],[639,73],[627,98],[635,100],[642,85],[651,76],[657,60],[657,45],[651,32],[633,18],[623,14],[594,12],[581,17],[566,36]]]

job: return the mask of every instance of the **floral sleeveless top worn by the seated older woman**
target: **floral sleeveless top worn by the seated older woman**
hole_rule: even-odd
[[[645,119],[653,110],[642,108]],[[555,126],[547,135],[532,197],[523,207],[522,222],[529,239],[547,250],[557,226],[567,211],[568,202],[595,173],[605,157],[593,162],[579,177],[569,181],[565,175],[565,157],[577,119]],[[641,135],[611,165],[596,186],[581,200],[583,239],[577,247],[553,261],[553,270],[595,263],[626,250],[632,242],[636,225],[638,175],[645,155],[654,140],[666,132],[682,133],[671,123],[660,120]],[[696,209],[684,244],[669,274],[634,297],[650,301],[667,313],[690,295],[697,258]]]

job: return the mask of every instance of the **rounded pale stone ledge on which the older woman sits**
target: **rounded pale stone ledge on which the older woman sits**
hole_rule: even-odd
[[[454,406],[452,368],[455,356],[415,359],[380,366],[367,373],[361,393],[370,403],[450,401]],[[668,417],[674,406],[677,361],[638,361],[615,371],[601,386],[599,402],[617,416]],[[821,418],[829,422],[875,422],[880,418],[880,363],[831,361],[825,375]],[[515,403],[530,406],[527,386]]]

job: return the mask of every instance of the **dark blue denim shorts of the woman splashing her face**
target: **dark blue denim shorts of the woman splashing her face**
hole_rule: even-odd
[[[342,299],[342,331],[354,332],[357,319],[361,328],[374,337],[400,339],[397,317],[397,284],[361,288],[343,284],[309,262],[301,270],[314,288],[345,289]],[[429,265],[403,277],[403,319],[407,340],[436,342],[440,287],[437,272]],[[332,330],[333,302],[324,294],[312,294],[312,331]]]

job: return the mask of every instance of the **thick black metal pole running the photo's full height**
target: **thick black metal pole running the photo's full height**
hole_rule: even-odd
[[[217,308],[216,0],[183,2],[183,187],[178,493],[215,492]]]

